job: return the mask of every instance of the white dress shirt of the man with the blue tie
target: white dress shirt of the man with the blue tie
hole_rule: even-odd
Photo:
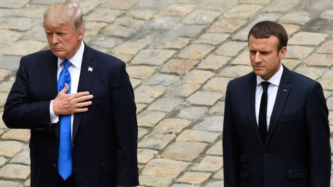
[[[74,56],[69,59],[72,65],[68,68],[68,71],[71,74],[71,93],[77,93],[78,85],[79,85],[79,78],[80,78],[80,71],[81,71],[81,64],[83,58],[83,51],[84,51],[84,43],[81,41],[81,46],[79,50],[74,54]],[[57,71],[57,81],[61,71],[64,69],[63,59],[58,57],[58,71]],[[54,115],[53,108],[52,108],[53,100],[50,103],[50,123],[56,123],[59,121],[59,116]],[[74,114],[71,115],[71,132],[73,138],[73,119]]]

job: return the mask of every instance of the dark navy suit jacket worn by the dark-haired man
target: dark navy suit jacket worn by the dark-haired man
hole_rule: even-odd
[[[328,110],[322,88],[284,67],[266,143],[255,117],[256,75],[228,84],[223,130],[225,187],[326,187]]]

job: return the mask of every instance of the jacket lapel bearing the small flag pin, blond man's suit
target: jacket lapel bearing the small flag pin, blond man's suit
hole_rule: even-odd
[[[82,58],[82,65],[80,71],[79,85],[77,92],[84,92],[90,90],[94,74],[96,72],[96,63],[93,60],[91,48],[84,44],[84,52]],[[89,71],[88,71],[89,69]],[[91,71],[90,71],[91,70]],[[80,121],[83,113],[75,113],[73,120],[73,142],[79,130]]]

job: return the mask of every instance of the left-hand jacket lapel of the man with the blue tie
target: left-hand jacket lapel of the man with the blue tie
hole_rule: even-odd
[[[57,82],[57,71],[58,71],[58,57],[50,52],[48,58],[43,63],[43,77],[44,85],[49,99],[54,99],[58,94],[58,82]],[[55,136],[59,139],[60,131],[59,123],[55,126]]]

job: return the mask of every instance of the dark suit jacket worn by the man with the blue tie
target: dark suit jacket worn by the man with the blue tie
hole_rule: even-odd
[[[3,115],[7,127],[31,129],[32,187],[58,186],[60,124],[50,125],[49,115],[58,94],[57,59],[50,50],[21,58]],[[136,106],[125,64],[85,45],[77,91],[94,98],[87,112],[74,115],[76,185],[138,185]]]

